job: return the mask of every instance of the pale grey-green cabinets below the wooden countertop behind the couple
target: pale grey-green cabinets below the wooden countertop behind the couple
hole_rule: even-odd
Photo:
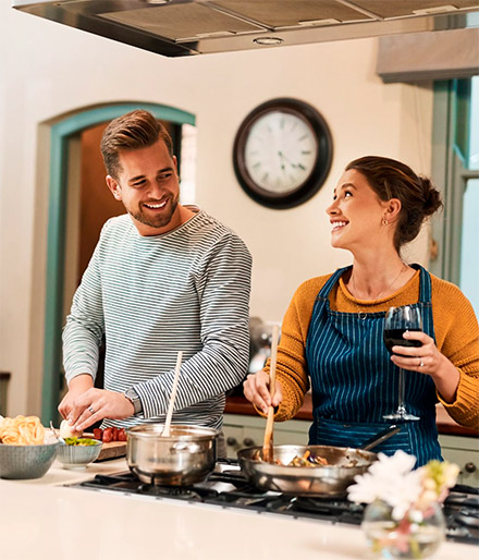
[[[274,424],[274,443],[307,445],[310,421],[292,419]],[[246,447],[262,446],[266,418],[245,414],[225,414],[223,431],[228,456]],[[445,461],[460,467],[458,483],[479,487],[479,439],[467,436],[440,435],[442,455]]]

